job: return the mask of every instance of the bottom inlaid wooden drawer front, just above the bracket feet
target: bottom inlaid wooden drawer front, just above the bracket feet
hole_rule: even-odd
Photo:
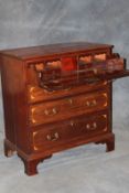
[[[55,125],[42,127],[32,132],[33,149],[53,150],[58,144],[72,142],[78,138],[89,139],[96,135],[108,131],[108,115],[106,112],[87,117],[86,115],[75,119],[68,119]]]

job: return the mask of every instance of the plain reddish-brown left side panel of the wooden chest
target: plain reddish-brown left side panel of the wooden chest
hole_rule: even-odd
[[[17,148],[29,151],[24,72],[22,61],[1,55],[6,138]]]

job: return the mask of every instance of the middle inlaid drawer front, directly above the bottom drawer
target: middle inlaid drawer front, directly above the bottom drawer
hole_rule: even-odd
[[[30,125],[35,126],[63,120],[85,112],[100,110],[107,106],[108,93],[106,90],[33,105],[30,107]]]

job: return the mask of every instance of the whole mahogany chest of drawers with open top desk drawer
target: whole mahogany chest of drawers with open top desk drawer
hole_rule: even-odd
[[[112,79],[129,76],[112,45],[86,42],[0,52],[4,154],[25,173],[53,153],[95,142],[115,149]]]

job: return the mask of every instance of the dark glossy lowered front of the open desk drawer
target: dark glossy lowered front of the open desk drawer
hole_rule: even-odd
[[[41,73],[39,83],[45,89],[57,90],[126,76],[129,76],[129,69],[126,69],[125,60],[117,57],[92,64],[78,63],[74,71],[50,69]]]

